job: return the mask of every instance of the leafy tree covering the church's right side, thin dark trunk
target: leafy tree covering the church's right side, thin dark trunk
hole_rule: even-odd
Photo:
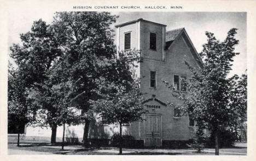
[[[238,44],[235,34],[236,29],[230,29],[226,39],[220,42],[213,33],[206,32],[208,40],[199,53],[203,67],[196,69],[184,61],[191,73],[185,82],[188,94],[164,81],[172,95],[183,102],[178,107],[182,114],[188,114],[197,122],[197,127],[208,128],[214,134],[216,155],[219,154],[219,133],[226,129],[235,131],[237,120],[246,116],[246,98],[240,100],[240,90],[236,88],[238,76],[228,78],[233,58],[239,54],[234,52]]]

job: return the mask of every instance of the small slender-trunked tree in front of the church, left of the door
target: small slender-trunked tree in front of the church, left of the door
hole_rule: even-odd
[[[146,112],[143,107],[139,82],[134,77],[138,52],[120,53],[120,58],[110,65],[109,78],[97,80],[98,100],[91,100],[94,111],[106,124],[117,123],[120,131],[119,154],[122,154],[122,125],[141,121]]]

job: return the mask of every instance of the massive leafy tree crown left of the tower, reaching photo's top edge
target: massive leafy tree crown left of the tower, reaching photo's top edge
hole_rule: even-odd
[[[116,18],[105,12],[56,13],[53,23],[35,21],[30,32],[20,35],[22,45],[10,47],[24,98],[37,111],[40,125],[56,134],[57,125],[93,118],[89,100],[97,99],[95,79],[114,58],[110,25]],[[81,109],[82,116],[70,107]]]

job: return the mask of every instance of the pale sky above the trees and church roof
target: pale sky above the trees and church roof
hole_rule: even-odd
[[[230,76],[237,74],[241,76],[246,70],[247,58],[247,15],[246,13],[232,12],[113,12],[119,18],[114,24],[143,18],[144,20],[166,24],[166,31],[185,28],[196,51],[202,51],[202,45],[207,42],[205,32],[212,32],[217,39],[223,41],[231,28],[237,28],[235,38],[239,44],[235,46],[235,52],[239,52],[234,58],[234,65]],[[30,16],[27,16],[30,15]],[[54,12],[45,11],[10,11],[8,14],[8,45],[20,43],[19,34],[30,31],[33,21],[42,18],[43,21],[51,23]],[[114,26],[113,25],[113,26]]]

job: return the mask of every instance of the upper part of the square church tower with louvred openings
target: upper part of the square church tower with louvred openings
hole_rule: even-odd
[[[142,59],[165,61],[166,25],[139,18],[115,26],[117,58],[120,51],[136,49]]]

